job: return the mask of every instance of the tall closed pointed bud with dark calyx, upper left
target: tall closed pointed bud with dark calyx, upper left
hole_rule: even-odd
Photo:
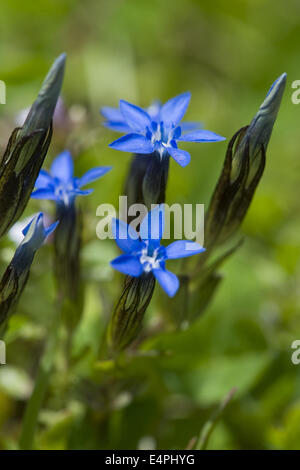
[[[0,162],[0,236],[22,215],[48,151],[65,60],[62,54],[52,65],[23,127],[13,131]]]

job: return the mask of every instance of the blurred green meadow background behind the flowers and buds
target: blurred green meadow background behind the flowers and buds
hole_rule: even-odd
[[[57,123],[45,167],[64,148],[76,173],[112,165],[81,204],[84,211],[84,317],[72,367],[58,350],[36,446],[43,449],[183,449],[198,436],[232,387],[237,393],[212,433],[210,449],[299,449],[300,365],[300,4],[274,0],[10,0],[1,3],[0,105],[4,150],[20,111],[34,100],[61,52],[68,55]],[[114,244],[96,238],[96,208],[117,205],[130,155],[113,151],[116,134],[101,127],[99,108],[120,98],[146,107],[192,92],[186,118],[230,138],[250,122],[271,83],[288,81],[267,153],[267,166],[240,231],[243,246],[224,265],[224,280],[193,325],[176,331],[156,295],[146,321],[156,334],[120,364],[99,361],[107,315],[121,278],[109,267]],[[186,144],[192,161],[171,162],[167,202],[208,204],[226,142]],[[53,214],[31,201],[25,216]],[[0,270],[15,250],[1,241]],[[0,366],[0,448],[16,448],[25,403],[55,308],[52,247],[37,254],[6,336]],[[116,282],[117,281],[117,282]],[[167,310],[167,311],[166,311]],[[166,326],[167,325],[167,326]]]

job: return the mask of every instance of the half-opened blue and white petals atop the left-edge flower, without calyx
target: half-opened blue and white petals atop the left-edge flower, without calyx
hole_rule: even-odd
[[[22,231],[24,239],[18,246],[11,262],[14,269],[19,273],[30,268],[35,252],[58,225],[58,222],[55,222],[46,228],[43,217],[42,212],[35,215]]]

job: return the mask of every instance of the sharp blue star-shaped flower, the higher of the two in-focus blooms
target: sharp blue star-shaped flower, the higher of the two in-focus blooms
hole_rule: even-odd
[[[110,147],[124,152],[151,154],[158,152],[160,157],[169,154],[181,166],[190,162],[190,154],[177,147],[177,142],[218,142],[224,140],[214,132],[198,129],[187,134],[182,134],[182,126],[179,125],[191,99],[189,92],[171,98],[167,101],[153,118],[151,114],[142,108],[127,101],[120,101],[120,111],[115,110],[117,119],[120,112],[125,120],[123,137],[115,140]],[[106,109],[106,115],[107,109]],[[111,117],[113,117],[111,115]],[[122,121],[119,121],[122,124]],[[119,127],[119,130],[122,125]]]

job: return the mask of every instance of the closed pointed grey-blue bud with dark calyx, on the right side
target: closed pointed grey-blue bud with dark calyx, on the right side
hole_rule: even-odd
[[[251,124],[240,129],[229,142],[206,216],[208,249],[233,235],[247,213],[264,171],[266,150],[285,84],[286,74],[282,74],[270,88]]]

